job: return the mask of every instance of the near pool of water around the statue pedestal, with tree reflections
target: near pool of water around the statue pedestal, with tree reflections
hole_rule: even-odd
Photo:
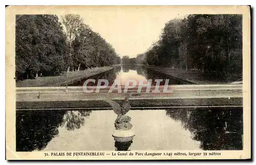
[[[242,150],[243,109],[133,110],[133,141],[115,142],[113,111],[16,111],[17,151]]]

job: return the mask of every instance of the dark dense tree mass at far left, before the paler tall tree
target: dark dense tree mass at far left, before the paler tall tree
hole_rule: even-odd
[[[53,75],[62,71],[66,36],[56,15],[17,15],[15,26],[16,77]]]

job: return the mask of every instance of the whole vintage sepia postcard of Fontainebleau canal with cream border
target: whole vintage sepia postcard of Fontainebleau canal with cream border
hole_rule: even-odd
[[[6,159],[250,159],[249,6],[6,7]]]

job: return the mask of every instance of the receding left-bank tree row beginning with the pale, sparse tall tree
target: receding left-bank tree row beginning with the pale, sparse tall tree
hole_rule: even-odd
[[[92,31],[79,15],[61,17],[69,45],[67,64],[70,70],[120,64],[120,57],[111,44]]]

